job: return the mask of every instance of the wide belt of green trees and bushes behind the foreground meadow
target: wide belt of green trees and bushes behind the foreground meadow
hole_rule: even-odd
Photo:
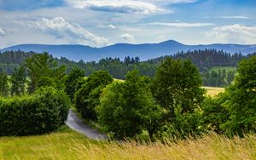
[[[256,56],[240,60],[234,81],[212,98],[191,60],[166,57],[153,77],[131,69],[120,81],[103,70],[88,77],[79,67],[67,73],[49,54],[32,54],[10,77],[0,72],[0,136],[55,131],[72,106],[114,140],[183,139],[212,131],[243,136],[255,131],[255,72]]]

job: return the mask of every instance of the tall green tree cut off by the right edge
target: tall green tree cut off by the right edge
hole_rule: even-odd
[[[256,56],[241,60],[237,72],[224,104],[230,117],[222,127],[230,134],[241,135],[244,131],[256,129]]]

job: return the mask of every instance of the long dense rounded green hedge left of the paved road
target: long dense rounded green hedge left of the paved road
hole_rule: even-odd
[[[0,136],[45,134],[58,129],[70,106],[63,91],[38,89],[27,97],[0,100]]]

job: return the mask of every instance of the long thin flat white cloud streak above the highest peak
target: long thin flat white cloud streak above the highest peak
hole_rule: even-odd
[[[171,26],[171,27],[203,27],[203,26],[213,26],[214,24],[212,24],[212,23],[183,23],[183,22],[177,22],[177,23],[153,22],[153,23],[148,23],[147,25]]]

